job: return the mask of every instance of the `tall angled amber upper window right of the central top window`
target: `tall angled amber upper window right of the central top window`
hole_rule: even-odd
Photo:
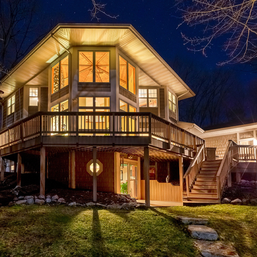
[[[136,94],[136,68],[120,56],[119,69],[120,86],[124,87],[131,93]]]

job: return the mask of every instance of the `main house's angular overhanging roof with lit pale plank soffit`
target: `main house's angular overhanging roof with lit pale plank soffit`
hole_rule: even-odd
[[[132,25],[59,24],[3,78],[5,97],[25,84],[47,85],[47,67],[72,46],[116,46],[139,66],[139,86],[169,86],[179,100],[195,95]]]

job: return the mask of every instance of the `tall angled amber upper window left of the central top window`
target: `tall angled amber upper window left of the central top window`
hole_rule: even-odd
[[[60,72],[61,71],[61,72]],[[52,67],[52,94],[69,84],[69,56]]]

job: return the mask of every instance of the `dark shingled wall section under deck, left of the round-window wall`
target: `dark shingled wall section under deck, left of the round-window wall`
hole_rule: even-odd
[[[49,155],[48,161],[48,178],[68,185],[69,153]]]

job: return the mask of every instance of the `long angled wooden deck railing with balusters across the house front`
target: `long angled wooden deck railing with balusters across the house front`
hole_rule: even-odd
[[[0,132],[0,148],[37,136],[147,136],[196,152],[204,140],[152,113],[39,112]]]

